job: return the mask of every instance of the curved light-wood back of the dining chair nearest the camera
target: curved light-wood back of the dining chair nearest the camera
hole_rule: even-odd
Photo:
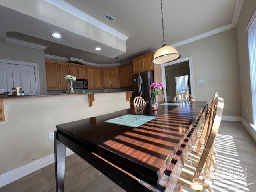
[[[217,135],[217,132],[218,132],[218,129],[220,126],[223,106],[224,106],[224,102],[223,102],[223,99],[220,97],[215,98],[214,101],[212,102],[212,105],[210,106],[209,113],[206,117],[206,122],[204,124],[204,128],[203,128],[201,137],[203,138],[206,136],[207,129],[210,130],[209,136],[208,137],[206,136],[205,147],[202,152],[202,156],[199,160],[196,173],[194,174],[194,177],[192,179],[192,182],[194,182],[194,183],[198,182],[203,170],[206,170],[206,172],[208,172],[208,169],[210,168],[210,163],[211,163],[211,158],[212,158],[211,155],[213,152],[216,135]],[[200,147],[200,146],[198,146],[198,147]],[[196,153],[198,153],[198,149],[196,150]]]

